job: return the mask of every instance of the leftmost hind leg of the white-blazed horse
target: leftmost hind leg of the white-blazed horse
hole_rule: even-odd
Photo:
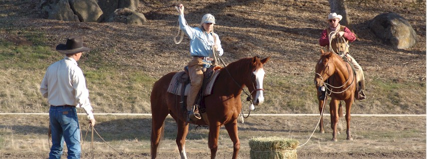
[[[153,107],[152,107],[153,109]],[[165,129],[165,119],[168,115],[167,111],[162,111],[157,109],[157,111],[152,110],[151,118],[151,158],[156,158],[157,156],[157,147],[159,146],[160,138],[163,137]]]

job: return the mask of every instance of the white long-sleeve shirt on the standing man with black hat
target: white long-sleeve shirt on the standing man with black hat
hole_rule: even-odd
[[[89,119],[94,118],[85,76],[76,60],[71,57],[66,56],[48,67],[40,85],[40,92],[43,97],[48,98],[51,105],[82,107]]]

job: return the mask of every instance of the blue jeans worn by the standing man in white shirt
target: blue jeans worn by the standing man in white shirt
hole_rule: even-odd
[[[80,158],[80,126],[76,107],[51,106],[49,110],[52,132],[52,148],[49,158],[61,158],[64,140],[67,143],[68,158]]]

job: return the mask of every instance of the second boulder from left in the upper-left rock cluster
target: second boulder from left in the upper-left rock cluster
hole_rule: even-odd
[[[103,12],[97,0],[70,0],[70,4],[80,22],[101,22]]]

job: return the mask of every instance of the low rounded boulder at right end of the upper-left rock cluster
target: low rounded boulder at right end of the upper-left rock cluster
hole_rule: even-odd
[[[147,19],[145,19],[142,13],[138,13],[129,8],[122,8],[114,11],[114,14],[112,14],[106,22],[119,22],[134,26],[142,26],[147,22]]]

